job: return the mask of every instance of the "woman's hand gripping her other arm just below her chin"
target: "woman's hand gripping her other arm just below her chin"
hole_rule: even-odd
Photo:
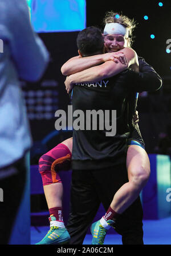
[[[105,53],[103,54],[103,61],[114,61],[116,63],[121,62],[121,64],[127,64],[128,60],[127,57],[123,52],[113,52],[113,53]]]

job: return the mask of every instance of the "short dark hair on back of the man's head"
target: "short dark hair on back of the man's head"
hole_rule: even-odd
[[[91,26],[80,31],[76,43],[83,57],[103,53],[104,38],[98,27]]]

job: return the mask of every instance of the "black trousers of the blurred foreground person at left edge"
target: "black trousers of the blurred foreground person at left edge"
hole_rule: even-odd
[[[10,235],[25,188],[25,158],[11,166],[0,169],[0,174],[0,188],[3,190],[3,200],[1,199],[0,202],[0,245],[7,245],[10,241]],[[9,176],[6,176],[6,174],[9,174]]]

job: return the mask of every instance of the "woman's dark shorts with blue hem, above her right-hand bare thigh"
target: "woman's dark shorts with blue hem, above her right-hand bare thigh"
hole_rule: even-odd
[[[144,143],[143,137],[141,136],[141,132],[138,124],[136,124],[135,128],[132,129],[131,135],[128,137],[127,145],[128,147],[130,145],[138,145],[141,148],[145,149],[145,143]]]

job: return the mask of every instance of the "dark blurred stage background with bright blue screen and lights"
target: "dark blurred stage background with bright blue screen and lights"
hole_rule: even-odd
[[[91,25],[103,28],[105,11],[113,8],[116,11],[123,11],[123,14],[135,18],[139,23],[135,30],[136,38],[132,48],[153,66],[163,80],[160,91],[142,93],[138,101],[140,130],[151,163],[150,179],[141,193],[141,200],[144,220],[168,218],[170,202],[166,200],[168,195],[166,190],[171,188],[171,53],[166,53],[166,41],[170,37],[171,27],[170,1],[165,1],[162,7],[158,6],[157,1],[147,0],[139,2],[130,0],[124,3],[117,1],[115,5],[113,1],[104,4],[97,0],[28,0],[27,2],[32,26],[47,46],[51,62],[40,81],[22,82],[34,145],[30,152],[31,167],[28,167],[26,193],[15,224],[21,222],[21,212],[27,211],[30,214],[31,208],[31,216],[26,214],[27,223],[31,222],[36,228],[48,225],[48,209],[38,172],[38,160],[43,153],[72,136],[72,132],[56,133],[55,131],[55,111],[57,109],[67,111],[67,106],[70,104],[64,89],[65,77],[62,76],[60,68],[69,58],[78,55],[76,37],[79,30]],[[145,21],[146,14],[149,19]],[[153,40],[151,34],[155,35]],[[71,174],[71,170],[60,173],[64,184],[65,222],[69,212]],[[99,219],[103,214],[103,206],[100,206],[95,219]],[[27,232],[28,238],[29,224]],[[115,231],[110,232],[115,233]],[[15,226],[11,243],[30,243],[29,238],[25,241],[21,237],[22,232]]]

